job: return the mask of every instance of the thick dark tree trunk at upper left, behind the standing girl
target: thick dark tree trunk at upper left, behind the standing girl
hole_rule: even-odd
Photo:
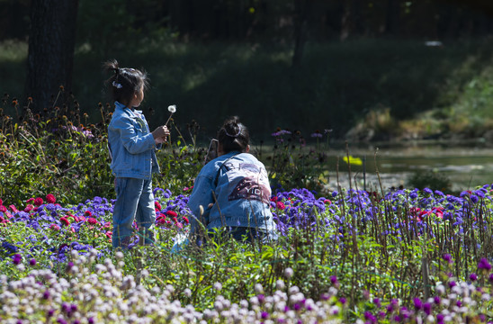
[[[78,0],[31,2],[25,93],[37,111],[54,104],[60,85],[71,91],[77,6]]]

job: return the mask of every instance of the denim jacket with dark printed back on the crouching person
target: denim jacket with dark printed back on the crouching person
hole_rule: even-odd
[[[202,167],[193,184],[188,207],[196,220],[191,217],[191,232],[198,230],[198,221],[207,229],[274,230],[270,199],[271,187],[262,162],[248,153],[229,152],[217,157]]]

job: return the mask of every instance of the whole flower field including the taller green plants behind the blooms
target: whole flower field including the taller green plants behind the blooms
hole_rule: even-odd
[[[84,126],[72,99],[34,114],[13,100],[17,119],[0,113],[0,323],[493,321],[492,185],[327,190],[328,132],[303,150],[299,132],[278,130],[272,154],[258,155],[279,240],[219,232],[176,248],[205,149],[196,122],[178,130],[172,118],[176,140],[157,153],[153,179],[155,244],[140,246],[136,230],[128,251],[114,251],[110,107]]]

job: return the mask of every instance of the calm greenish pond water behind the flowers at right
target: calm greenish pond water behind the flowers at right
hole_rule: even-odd
[[[342,146],[328,150],[329,186],[349,186],[347,152],[360,158],[361,166],[351,165],[351,185],[376,190],[390,187],[409,187],[409,179],[417,174],[449,179],[453,192],[493,184],[493,146],[481,141],[444,143],[412,142],[404,144],[368,144]],[[379,176],[380,175],[380,180]]]

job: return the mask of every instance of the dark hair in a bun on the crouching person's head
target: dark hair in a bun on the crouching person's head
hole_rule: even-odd
[[[222,124],[218,131],[218,140],[224,153],[234,150],[245,152],[250,143],[250,133],[247,127],[239,122],[238,117],[233,116]]]

